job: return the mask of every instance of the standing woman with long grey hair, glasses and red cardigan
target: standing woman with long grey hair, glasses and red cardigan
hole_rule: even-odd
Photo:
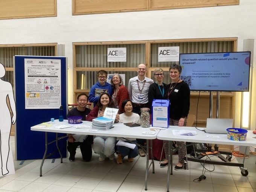
[[[129,99],[129,94],[127,88],[123,85],[123,79],[120,74],[114,73],[112,76],[110,83],[113,88],[112,101],[116,105],[116,108],[119,109],[118,113],[121,114],[125,112],[122,108],[122,102],[125,99]]]

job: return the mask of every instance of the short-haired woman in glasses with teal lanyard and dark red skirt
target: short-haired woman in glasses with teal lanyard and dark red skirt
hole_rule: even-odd
[[[157,68],[154,70],[155,83],[149,86],[148,90],[148,104],[152,106],[153,99],[164,99],[166,84],[163,83],[163,69]],[[155,160],[163,159],[161,158],[163,140],[154,139],[153,145],[153,157]]]

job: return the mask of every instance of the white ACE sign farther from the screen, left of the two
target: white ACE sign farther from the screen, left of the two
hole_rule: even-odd
[[[126,62],[126,47],[108,48],[108,62]]]

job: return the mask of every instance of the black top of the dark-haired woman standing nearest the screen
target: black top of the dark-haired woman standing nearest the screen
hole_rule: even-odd
[[[167,85],[165,90],[165,99],[169,99],[169,116],[171,119],[179,120],[181,117],[187,117],[190,105],[190,89],[185,81],[177,84]],[[168,96],[169,94],[169,96]]]

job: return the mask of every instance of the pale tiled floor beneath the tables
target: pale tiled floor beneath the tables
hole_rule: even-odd
[[[14,151],[14,137],[11,138]],[[43,155],[43,154],[42,154]],[[14,152],[13,152],[13,157]],[[233,157],[234,158],[234,157]],[[215,159],[215,157],[212,157]],[[106,159],[98,161],[93,154],[91,162],[82,162],[81,153],[76,154],[76,161],[63,163],[56,159],[54,163],[47,159],[43,166],[43,177],[39,176],[41,160],[14,161],[15,174],[0,178],[0,192],[143,192],[145,182],[145,157],[137,157],[133,163],[125,158],[119,165],[116,161]],[[189,170],[173,172],[170,177],[170,192],[256,192],[256,157],[251,155],[245,160],[249,168],[248,176],[241,175],[238,167],[205,165],[206,179],[194,182],[202,174],[200,163],[188,162]],[[241,162],[241,159],[232,162]],[[177,162],[177,155],[174,155]],[[214,169],[214,171],[212,171]],[[155,173],[148,177],[148,191],[166,191],[167,168],[160,168],[155,161]]]

